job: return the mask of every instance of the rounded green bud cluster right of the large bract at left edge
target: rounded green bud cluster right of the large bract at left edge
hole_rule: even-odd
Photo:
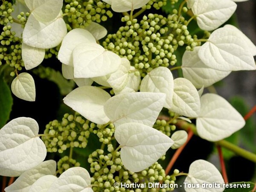
[[[67,148],[87,146],[90,135],[89,121],[79,113],[75,115],[64,114],[61,122],[53,120],[46,125],[42,140],[48,152],[62,153]]]

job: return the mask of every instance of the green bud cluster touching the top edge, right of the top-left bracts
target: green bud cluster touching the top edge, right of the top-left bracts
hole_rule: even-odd
[[[113,16],[108,10],[110,5],[102,0],[65,0],[65,15],[67,15],[67,29],[84,28],[92,21],[100,23]]]

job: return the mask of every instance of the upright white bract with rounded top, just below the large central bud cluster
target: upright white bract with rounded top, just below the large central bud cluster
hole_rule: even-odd
[[[157,67],[148,73],[140,84],[141,92],[166,93],[165,108],[172,107],[173,76],[167,67]]]

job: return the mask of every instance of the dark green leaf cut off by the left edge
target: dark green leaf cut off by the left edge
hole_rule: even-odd
[[[0,76],[0,128],[6,124],[12,111],[12,94],[11,90]]]

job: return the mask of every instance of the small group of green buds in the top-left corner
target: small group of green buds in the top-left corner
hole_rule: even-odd
[[[13,23],[11,16],[13,11],[12,3],[7,0],[3,1],[3,4],[0,6],[0,25],[6,26],[9,23]]]

